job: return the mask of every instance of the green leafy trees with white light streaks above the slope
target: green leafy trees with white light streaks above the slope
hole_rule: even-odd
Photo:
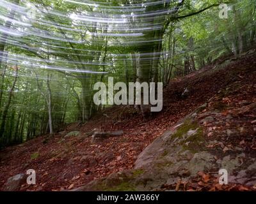
[[[1,0],[0,146],[90,120],[95,82],[166,85],[255,47],[255,1],[221,2]]]

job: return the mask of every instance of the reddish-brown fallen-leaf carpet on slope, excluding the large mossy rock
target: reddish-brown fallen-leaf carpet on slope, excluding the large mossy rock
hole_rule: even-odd
[[[189,89],[189,96],[184,99],[181,94],[186,87]],[[232,87],[235,92],[232,92]],[[226,89],[230,91],[230,97],[220,99],[220,91]],[[71,190],[111,173],[131,170],[139,154],[150,143],[195,108],[209,99],[216,99],[216,96],[221,100],[218,104],[223,108],[222,117],[216,120],[225,121],[223,117],[236,112],[236,106],[243,105],[244,112],[237,113],[237,117],[243,120],[236,120],[231,126],[244,125],[248,130],[246,134],[255,135],[256,108],[248,108],[250,103],[256,102],[255,92],[255,53],[230,61],[225,67],[207,66],[186,77],[172,80],[164,89],[163,111],[152,115],[146,121],[132,107],[114,106],[104,113],[98,113],[83,126],[70,124],[54,136],[39,136],[29,142],[1,150],[0,190],[4,190],[8,178],[26,173],[28,169],[36,171],[36,185],[23,185],[20,191]],[[207,108],[203,111],[207,112]],[[102,131],[122,130],[124,135],[92,142],[92,138],[86,133],[95,128]],[[212,124],[211,128],[215,129],[216,124]],[[77,131],[77,134],[67,136],[72,131]],[[208,136],[218,138],[219,141],[224,140],[220,135],[209,133]],[[230,144],[223,141],[226,142],[225,151],[234,143],[242,145],[245,151],[256,150],[254,139],[249,141],[248,138],[239,138],[228,141],[231,141]]]

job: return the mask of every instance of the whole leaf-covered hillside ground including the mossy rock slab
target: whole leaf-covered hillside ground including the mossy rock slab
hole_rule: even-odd
[[[181,97],[187,88],[189,94]],[[253,190],[256,184],[256,55],[208,66],[173,80],[163,112],[147,121],[127,106],[70,124],[0,152],[0,189],[8,178],[36,170],[21,191]],[[93,129],[122,130],[92,141]],[[228,185],[218,184],[218,170]]]

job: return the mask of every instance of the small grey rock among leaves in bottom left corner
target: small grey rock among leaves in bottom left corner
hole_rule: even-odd
[[[6,182],[6,191],[18,191],[23,184],[26,184],[28,175],[24,173],[10,177]]]

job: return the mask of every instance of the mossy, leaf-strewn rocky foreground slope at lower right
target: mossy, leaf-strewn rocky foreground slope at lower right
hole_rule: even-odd
[[[228,85],[148,145],[134,170],[76,190],[255,190],[255,61],[237,62],[225,69]],[[220,169],[227,170],[228,185],[219,184]]]

